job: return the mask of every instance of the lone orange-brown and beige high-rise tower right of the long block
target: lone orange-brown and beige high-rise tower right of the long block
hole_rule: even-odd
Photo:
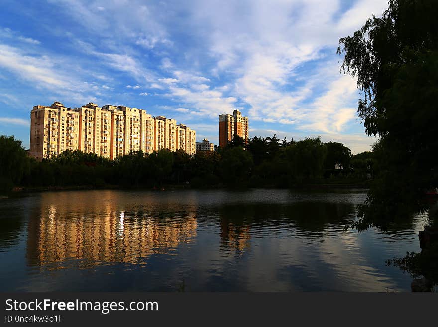
[[[243,117],[237,109],[233,111],[232,115],[219,115],[219,146],[225,147],[234,135],[247,141],[249,138],[248,126],[248,117]]]

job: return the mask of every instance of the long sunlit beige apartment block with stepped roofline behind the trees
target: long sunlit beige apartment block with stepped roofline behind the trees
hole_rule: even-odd
[[[184,142],[179,142],[176,120],[152,117],[143,109],[101,108],[91,102],[72,109],[55,102],[34,106],[30,116],[29,154],[37,160],[65,150],[92,152],[110,159],[139,150],[150,154],[162,148],[181,148],[190,155],[196,151],[194,130],[181,125],[189,132],[184,129]]]

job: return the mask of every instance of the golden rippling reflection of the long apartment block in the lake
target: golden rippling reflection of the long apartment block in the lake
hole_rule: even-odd
[[[31,266],[59,269],[115,262],[145,264],[152,254],[171,254],[180,243],[191,242],[196,236],[193,206],[160,217],[162,210],[154,204],[150,208],[130,205],[125,211],[113,201],[99,204],[93,199],[56,199],[52,203],[42,201],[40,211],[29,219],[27,260]]]

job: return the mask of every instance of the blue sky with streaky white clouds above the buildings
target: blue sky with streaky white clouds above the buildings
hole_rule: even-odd
[[[219,114],[249,136],[320,136],[371,150],[339,38],[387,0],[0,0],[0,135],[29,147],[30,110],[124,105],[218,144]]]

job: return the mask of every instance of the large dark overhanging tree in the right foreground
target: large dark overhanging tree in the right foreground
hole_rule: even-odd
[[[390,0],[381,18],[339,40],[341,71],[361,91],[359,117],[379,137],[358,230],[425,211],[425,190],[438,185],[437,16],[438,1]]]

